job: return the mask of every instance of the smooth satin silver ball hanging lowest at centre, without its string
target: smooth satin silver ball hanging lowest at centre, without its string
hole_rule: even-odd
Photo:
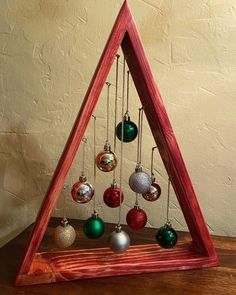
[[[121,226],[116,226],[116,229],[110,234],[108,239],[111,250],[115,253],[124,253],[130,245],[129,235],[121,229]]]

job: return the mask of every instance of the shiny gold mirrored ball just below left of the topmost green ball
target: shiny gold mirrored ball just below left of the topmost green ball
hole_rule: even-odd
[[[108,142],[105,143],[104,150],[97,155],[96,165],[103,172],[110,172],[116,168],[117,157],[111,151],[111,145]]]

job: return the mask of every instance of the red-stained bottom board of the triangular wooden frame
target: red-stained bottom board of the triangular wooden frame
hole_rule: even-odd
[[[45,284],[217,265],[217,256],[202,256],[192,243],[179,243],[168,250],[156,244],[130,246],[124,254],[114,254],[109,248],[43,252],[35,255],[27,274],[17,276],[15,285]]]

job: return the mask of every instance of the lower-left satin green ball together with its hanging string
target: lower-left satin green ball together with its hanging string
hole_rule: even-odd
[[[96,117],[93,116],[94,119],[94,133],[93,133],[93,180],[94,180],[94,187],[96,187],[96,165],[95,165],[95,159],[96,159]],[[89,239],[98,239],[100,238],[105,231],[105,225],[103,220],[98,216],[98,213],[96,211],[96,195],[94,194],[93,198],[93,214],[91,217],[89,217],[84,225],[83,225],[83,231],[87,238]]]

